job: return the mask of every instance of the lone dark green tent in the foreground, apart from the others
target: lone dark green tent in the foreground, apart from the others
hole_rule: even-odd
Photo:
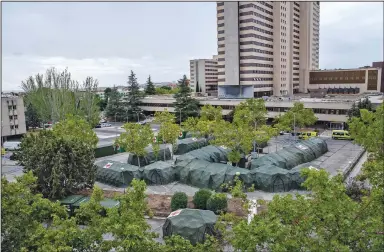
[[[191,244],[203,243],[206,235],[216,235],[217,216],[209,210],[179,209],[172,212],[163,225],[163,237],[180,235]]]

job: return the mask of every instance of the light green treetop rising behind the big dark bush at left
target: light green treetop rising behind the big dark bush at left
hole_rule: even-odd
[[[55,136],[69,141],[80,141],[91,148],[96,148],[99,141],[89,123],[80,116],[67,115],[65,120],[53,126],[52,132]]]

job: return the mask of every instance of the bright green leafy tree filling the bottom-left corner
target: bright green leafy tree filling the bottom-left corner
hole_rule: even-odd
[[[65,217],[59,204],[36,194],[36,177],[29,172],[9,182],[1,178],[1,251],[34,251],[35,234],[51,216]]]

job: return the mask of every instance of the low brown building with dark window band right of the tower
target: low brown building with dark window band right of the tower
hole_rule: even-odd
[[[325,89],[328,94],[375,93],[381,89],[381,68],[312,70],[306,75],[304,85],[307,90]]]

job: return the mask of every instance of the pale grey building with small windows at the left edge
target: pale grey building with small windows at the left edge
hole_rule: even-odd
[[[27,132],[25,124],[24,101],[19,96],[1,98],[1,136],[2,140],[10,136]]]

